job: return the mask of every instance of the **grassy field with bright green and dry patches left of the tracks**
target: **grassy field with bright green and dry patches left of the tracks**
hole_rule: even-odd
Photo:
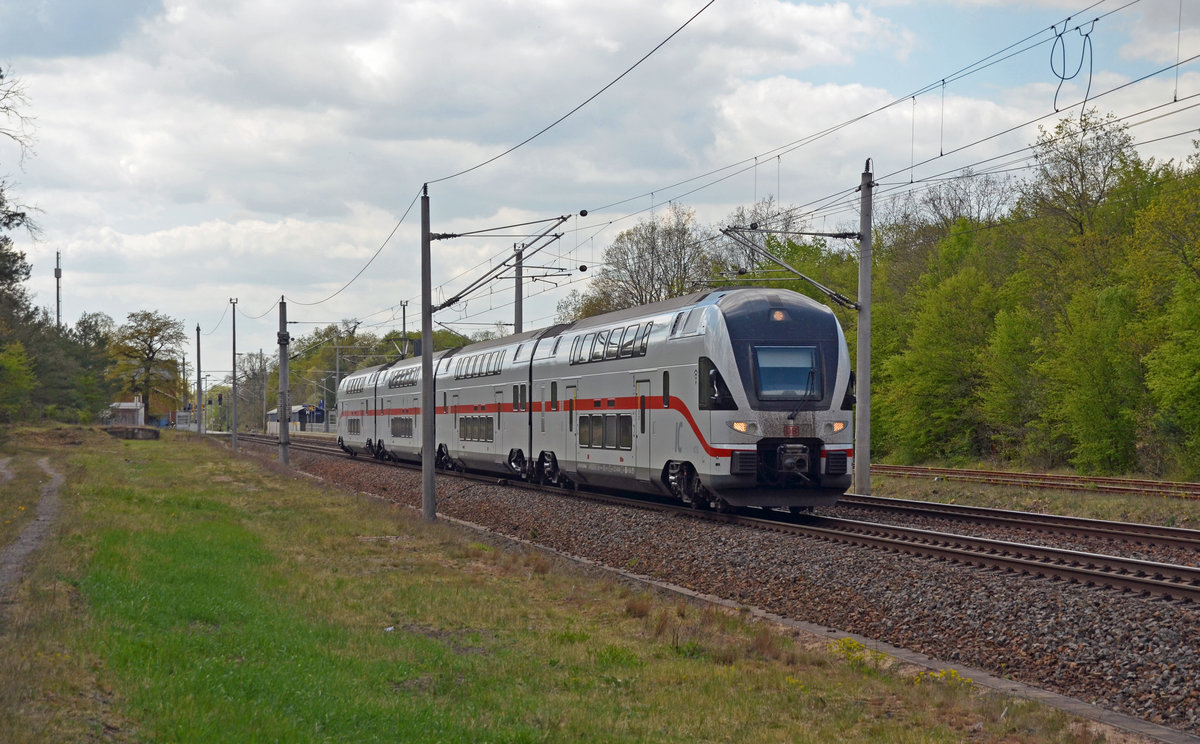
[[[5,518],[38,457],[68,485],[0,605],[4,742],[1105,740],[184,434],[26,431],[5,456]]]

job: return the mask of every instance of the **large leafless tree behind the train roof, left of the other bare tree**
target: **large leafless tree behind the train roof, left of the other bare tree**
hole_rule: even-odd
[[[712,275],[706,239],[695,212],[678,204],[638,222],[605,250],[605,265],[587,290],[559,302],[559,319],[577,320],[692,292]]]

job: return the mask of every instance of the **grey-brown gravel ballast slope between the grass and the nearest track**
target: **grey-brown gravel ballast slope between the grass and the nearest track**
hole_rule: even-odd
[[[299,450],[293,463],[420,508],[416,470],[362,467],[344,455]],[[797,540],[690,514],[502,486],[496,479],[439,474],[436,482],[440,514],[498,533],[1200,734],[1200,607],[1194,602]]]

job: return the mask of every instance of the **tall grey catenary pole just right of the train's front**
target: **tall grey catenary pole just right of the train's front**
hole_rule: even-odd
[[[854,390],[854,492],[871,494],[871,160],[863,169],[858,221],[858,386]]]

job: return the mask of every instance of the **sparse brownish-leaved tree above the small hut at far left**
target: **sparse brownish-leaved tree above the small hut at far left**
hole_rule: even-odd
[[[176,359],[186,340],[182,320],[145,310],[131,312],[125,325],[116,330],[113,340],[116,374],[127,390],[142,395],[148,418],[155,380],[173,384],[179,379]]]

